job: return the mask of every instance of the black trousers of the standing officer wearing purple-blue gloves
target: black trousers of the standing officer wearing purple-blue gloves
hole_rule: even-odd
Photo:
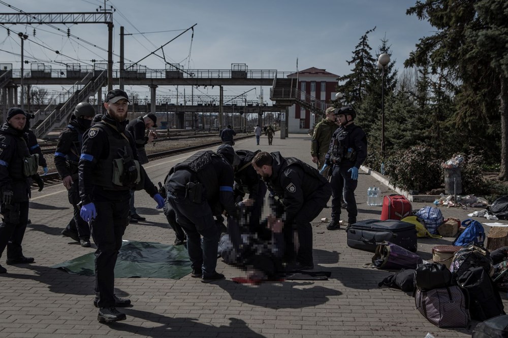
[[[129,195],[128,195],[129,196]],[[121,201],[94,201],[97,217],[91,221],[95,252],[95,292],[100,308],[115,306],[115,265],[122,236],[128,224],[129,198]]]

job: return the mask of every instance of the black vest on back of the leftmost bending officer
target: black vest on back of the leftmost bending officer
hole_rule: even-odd
[[[173,169],[175,172],[181,169],[189,170],[196,175],[196,179],[204,186],[218,188],[217,175],[212,163],[213,157],[222,159],[220,155],[211,150],[199,151],[185,161],[175,165]],[[216,193],[217,191],[205,191],[206,199],[210,200],[213,194]]]

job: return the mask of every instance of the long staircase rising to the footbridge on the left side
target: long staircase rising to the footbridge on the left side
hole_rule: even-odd
[[[74,85],[69,89],[67,92],[69,98],[65,100],[65,103],[61,107],[57,106],[42,123],[33,129],[37,138],[41,139],[55,127],[67,123],[69,115],[74,111],[76,105],[95,95],[105,85],[107,78],[107,71],[103,71],[97,77],[91,79],[83,88],[80,89],[78,85]]]

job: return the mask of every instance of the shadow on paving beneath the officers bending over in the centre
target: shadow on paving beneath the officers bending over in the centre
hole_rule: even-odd
[[[237,284],[231,281],[216,283],[234,300],[275,310],[315,307],[326,303],[330,296],[342,294],[340,291],[313,284],[313,282],[295,283],[290,281],[265,282],[257,286]],[[313,286],[308,287],[309,285]]]

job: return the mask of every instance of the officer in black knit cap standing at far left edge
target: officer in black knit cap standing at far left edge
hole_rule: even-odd
[[[21,242],[28,221],[29,178],[42,180],[37,174],[38,156],[30,155],[23,139],[25,123],[25,113],[11,108],[0,128],[0,198],[4,216],[0,223],[0,256],[7,247],[8,265],[34,262],[34,258],[23,256]],[[39,185],[41,191],[44,185]],[[6,272],[0,265],[0,273]]]

